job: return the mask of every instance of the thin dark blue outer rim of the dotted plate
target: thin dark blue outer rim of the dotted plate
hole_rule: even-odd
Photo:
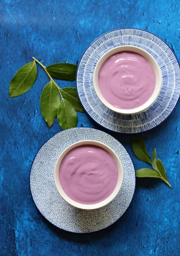
[[[82,129],[82,128],[88,128],[88,129],[93,129],[93,130],[101,131],[101,130],[99,130],[99,129],[91,128],[91,127],[74,127],[74,128],[69,128],[69,129],[66,129],[66,130]],[[63,131],[66,131],[66,130],[62,130],[62,131],[60,131],[60,132],[54,134],[52,137],[56,136],[57,134],[59,134],[59,133],[61,133],[61,132],[63,132]],[[101,131],[101,132],[107,134],[105,131]],[[111,134],[108,134],[108,135],[111,136],[111,137],[113,137]],[[52,138],[52,137],[51,137],[51,138]],[[51,140],[51,138],[49,138],[48,140],[46,140],[46,142],[43,143],[43,145],[45,145],[49,140]],[[113,137],[113,138],[114,138],[114,137]],[[117,140],[117,139],[114,138],[114,140]],[[119,142],[119,140],[117,140],[117,141]],[[119,142],[119,143],[120,143],[120,142]],[[121,143],[120,143],[120,144],[121,144]],[[43,145],[40,146],[39,150],[38,150],[37,153],[35,154],[35,156],[34,156],[34,158],[33,158],[33,161],[32,161],[32,163],[31,163],[31,169],[32,169],[32,165],[33,165],[33,163],[34,163],[34,160],[35,160],[37,154],[39,153],[40,149],[43,147]],[[123,144],[121,144],[121,145],[123,145]],[[124,146],[123,146],[123,147],[124,147]],[[125,147],[124,147],[124,148],[125,148]],[[125,150],[126,150],[126,148],[125,148]],[[126,150],[126,151],[127,151],[127,150]],[[128,151],[127,151],[127,153],[129,154]],[[130,154],[129,154],[129,157],[131,158]],[[132,158],[131,158],[131,161],[132,161]],[[133,161],[132,161],[132,165],[133,165],[133,167],[134,167]],[[34,198],[33,198],[33,196],[32,196],[32,192],[31,192],[31,169],[30,169],[30,172],[29,172],[29,190],[30,190],[31,198],[32,198],[32,201],[33,201],[35,207],[37,208],[37,210],[40,212],[41,215],[43,215],[43,213],[40,211],[40,209],[38,209],[37,205],[35,204]],[[135,172],[135,168],[134,168],[134,172]],[[135,173],[134,173],[134,192],[135,192],[135,188],[136,188],[136,175],[135,175]],[[134,198],[134,192],[133,192],[131,201],[130,201],[130,203],[129,203],[127,209],[129,208],[129,206],[130,206],[130,204],[131,204],[131,202],[132,202],[132,199]],[[125,212],[127,211],[127,209],[125,210]],[[125,214],[125,212],[120,216],[120,218]],[[44,215],[43,215],[43,217],[44,217],[49,223],[51,223],[51,221],[49,221]],[[118,221],[120,218],[118,218],[116,221]],[[80,233],[80,232],[69,231],[69,230],[66,230],[66,229],[64,229],[64,228],[57,227],[57,225],[55,225],[55,224],[53,224],[53,223],[51,223],[51,224],[52,224],[53,226],[55,226],[55,227],[61,229],[61,230],[66,231],[66,232],[75,233],[75,234],[90,234],[90,233],[96,233],[96,232],[99,232],[99,231],[101,231],[101,230],[104,230],[104,229],[110,227],[110,226],[111,226],[112,224],[114,224],[116,221],[114,221],[113,223],[109,224],[109,226],[104,227],[104,228],[102,228],[102,229],[100,229],[100,230],[92,231],[92,232],[81,232],[81,233]]]

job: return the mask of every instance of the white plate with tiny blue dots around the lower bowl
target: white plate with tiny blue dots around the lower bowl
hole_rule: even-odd
[[[97,140],[111,147],[123,165],[123,184],[111,203],[94,210],[77,209],[61,198],[54,183],[54,166],[62,151],[80,140]],[[34,203],[42,215],[55,226],[75,232],[102,230],[117,221],[131,203],[135,189],[134,166],[119,141],[103,131],[72,128],[48,140],[38,151],[31,166],[30,189]]]

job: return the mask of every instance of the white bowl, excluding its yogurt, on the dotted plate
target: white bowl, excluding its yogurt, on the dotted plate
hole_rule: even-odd
[[[77,146],[80,145],[96,145],[98,147],[104,148],[106,151],[109,152],[109,154],[111,154],[112,157],[114,157],[114,160],[116,161],[117,164],[117,168],[118,168],[118,180],[117,180],[117,185],[114,189],[114,191],[112,192],[112,194],[106,198],[105,200],[101,201],[100,203],[97,204],[80,204],[77,203],[76,201],[72,200],[71,198],[69,198],[66,193],[63,191],[61,185],[60,185],[60,180],[59,180],[59,168],[60,168],[60,164],[61,161],[63,160],[63,157],[72,149],[75,148]],[[71,204],[74,207],[80,208],[80,209],[97,209],[100,207],[105,206],[106,204],[109,204],[118,194],[118,192],[120,191],[121,185],[123,183],[123,166],[120,162],[119,157],[117,156],[117,154],[106,144],[95,141],[95,140],[82,140],[79,141],[77,143],[74,143],[72,145],[70,145],[69,147],[67,147],[58,157],[57,162],[55,164],[54,167],[54,182],[57,188],[57,191],[60,193],[60,195],[62,196],[62,198],[68,202],[69,204]]]

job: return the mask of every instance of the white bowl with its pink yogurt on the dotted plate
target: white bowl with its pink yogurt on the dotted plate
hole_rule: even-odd
[[[123,166],[106,144],[84,140],[70,145],[58,157],[54,182],[61,197],[80,209],[109,204],[123,183]]]

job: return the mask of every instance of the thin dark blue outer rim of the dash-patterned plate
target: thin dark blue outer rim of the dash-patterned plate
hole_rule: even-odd
[[[113,31],[123,30],[123,29],[136,29],[136,28],[121,28],[121,29],[113,29],[113,30],[110,30],[110,31],[108,31],[108,32],[106,32],[106,33],[104,33],[104,34],[98,36],[96,39],[94,39],[94,41],[91,42],[91,44],[93,44],[97,39],[101,38],[103,35],[106,35],[106,34],[108,34],[108,33],[110,33],[110,32],[113,32]],[[149,33],[149,34],[151,34],[151,35],[156,36],[157,38],[159,38],[161,41],[163,41],[163,42],[169,47],[169,45],[168,45],[163,39],[161,39],[159,36],[155,35],[154,33],[149,32],[149,31],[146,31],[145,29],[136,29],[136,30],[144,31],[144,32],[147,32],[147,33]],[[86,53],[87,49],[91,46],[91,44],[89,44],[89,46],[88,46],[88,47],[86,48],[86,50],[83,52],[83,55],[81,56],[80,61],[82,60],[84,54]],[[176,60],[177,60],[177,63],[178,63],[178,65],[179,65],[179,68],[180,68],[180,61],[178,61],[178,58],[177,58],[176,54],[175,54],[174,51],[171,49],[171,47],[169,47],[169,49],[170,49],[171,52],[174,54],[174,56],[175,56],[175,58],[176,58]],[[77,70],[76,70],[76,89],[77,89],[77,72],[78,72],[78,69],[79,69],[80,61],[78,62]],[[78,89],[77,89],[77,95],[78,95],[78,98],[80,99]],[[174,106],[174,108],[173,108],[173,110],[171,111],[171,113],[169,114],[169,116],[167,116],[167,117],[166,117],[162,122],[160,122],[158,125],[156,125],[156,126],[150,128],[149,130],[146,130],[146,131],[131,132],[131,133],[120,132],[120,131],[113,131],[113,130],[111,130],[111,129],[109,129],[109,128],[106,128],[105,126],[99,124],[96,120],[94,120],[94,118],[93,118],[92,116],[90,116],[90,114],[86,111],[86,109],[84,109],[84,110],[86,111],[86,113],[88,114],[88,116],[89,116],[97,125],[100,125],[100,127],[104,128],[104,129],[107,129],[108,131],[115,132],[116,134],[129,134],[129,135],[132,134],[132,135],[133,135],[133,134],[140,134],[140,133],[144,133],[144,132],[151,131],[152,129],[158,127],[159,125],[162,125],[163,122],[165,122],[165,121],[171,116],[171,114],[174,112],[174,110],[177,108],[177,104],[179,103],[179,101],[180,101],[180,95],[179,95],[179,98],[178,98],[178,100],[177,100],[177,102],[176,102],[176,105]],[[80,99],[80,103],[82,104],[81,99]],[[83,106],[83,104],[82,104],[82,106]],[[113,112],[114,112],[114,111],[113,111]]]

